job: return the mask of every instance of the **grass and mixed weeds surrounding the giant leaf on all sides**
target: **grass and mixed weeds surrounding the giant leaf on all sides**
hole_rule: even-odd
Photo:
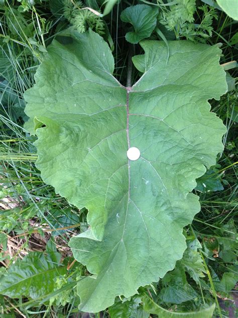
[[[187,250],[183,259],[159,282],[141,288],[139,295],[118,298],[112,307],[95,316],[148,317],[148,311],[152,316],[156,310],[159,313],[158,308],[153,309],[155,304],[186,312],[214,302],[214,317],[234,316],[237,23],[212,0],[2,0],[0,4],[0,277],[5,277],[7,270],[9,277],[5,289],[0,281],[1,317],[86,316],[77,309],[80,300],[75,286],[87,271],[72,258],[68,241],[87,228],[87,210],[79,211],[43,183],[34,165],[35,137],[23,127],[27,120],[23,94],[34,85],[34,73],[47,46],[69,26],[78,32],[90,27],[103,36],[115,58],[114,76],[124,85],[131,56],[142,53],[136,44],[141,38],[222,44],[220,63],[227,72],[228,92],[220,101],[210,103],[227,127],[224,151],[217,156],[217,164],[197,180],[194,192],[200,196],[201,211],[192,225],[184,228]],[[153,27],[149,33],[143,28],[147,19],[141,19],[138,26],[128,23],[125,12],[120,18],[123,10],[138,4],[150,5]],[[129,14],[133,20],[136,13]],[[126,36],[135,31],[135,26],[140,32]],[[132,82],[139,76],[133,69]]]

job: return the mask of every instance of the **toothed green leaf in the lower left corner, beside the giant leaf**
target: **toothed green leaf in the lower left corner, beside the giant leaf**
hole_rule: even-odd
[[[52,292],[56,278],[66,273],[66,266],[54,262],[59,257],[52,259],[50,254],[31,252],[23,260],[18,259],[1,277],[0,294],[36,299]]]

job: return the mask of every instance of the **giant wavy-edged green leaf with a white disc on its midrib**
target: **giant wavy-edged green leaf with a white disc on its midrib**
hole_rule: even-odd
[[[125,88],[112,76],[107,44],[89,30],[54,41],[27,91],[37,129],[37,166],[90,228],[71,238],[74,257],[94,274],[78,282],[80,309],[97,312],[172,270],[186,249],[182,228],[199,211],[189,193],[215,164],[225,127],[209,113],[226,91],[217,46],[143,41]],[[29,122],[33,130],[32,122]],[[129,146],[141,151],[129,162]]]

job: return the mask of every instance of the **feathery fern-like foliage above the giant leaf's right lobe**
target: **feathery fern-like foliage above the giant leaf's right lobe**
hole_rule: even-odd
[[[159,22],[167,30],[173,31],[177,39],[185,37],[191,41],[204,42],[212,35],[212,22],[217,19],[213,7],[203,5],[198,7],[199,23],[195,23],[196,1],[177,0],[177,3],[169,7],[160,6]]]

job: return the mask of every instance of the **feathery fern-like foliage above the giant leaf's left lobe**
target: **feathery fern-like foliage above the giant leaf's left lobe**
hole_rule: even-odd
[[[96,33],[103,35],[105,33],[103,20],[84,8],[85,5],[81,1],[64,0],[64,16],[79,33],[91,28]]]

